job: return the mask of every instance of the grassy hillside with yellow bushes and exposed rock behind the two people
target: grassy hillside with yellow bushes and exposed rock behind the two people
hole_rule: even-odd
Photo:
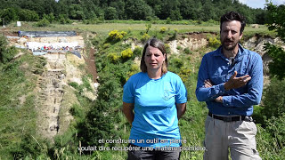
[[[167,44],[168,69],[182,77],[189,92],[188,110],[179,125],[187,141],[183,145],[196,150],[183,151],[182,159],[201,159],[203,151],[198,148],[203,145],[208,110],[204,103],[196,100],[194,91],[201,57],[219,45],[218,35],[215,32],[182,33],[170,28],[153,29],[149,33],[117,30],[112,34],[80,33],[75,41],[82,46],[81,58],[70,52],[34,56],[31,51],[18,49],[19,56],[1,64],[0,121],[4,124],[0,130],[1,158],[125,159],[125,151],[112,148],[124,148],[126,143],[99,140],[128,139],[130,126],[120,112],[122,86],[129,76],[139,71],[143,42],[157,36]],[[20,38],[9,39],[12,45],[24,42]],[[27,37],[27,42],[72,42],[72,38],[63,39],[30,40]],[[281,43],[261,35],[248,36],[242,43],[259,52],[266,66],[270,59],[262,49],[265,42]],[[123,52],[130,56],[124,57]],[[98,76],[90,72],[94,70]],[[99,86],[94,85],[96,82]],[[257,143],[261,143],[257,148],[261,156],[265,159],[281,157],[277,154],[278,148],[271,145],[275,139],[270,132],[260,125],[258,129]],[[97,149],[86,151],[88,146]],[[104,148],[100,150],[100,147]]]

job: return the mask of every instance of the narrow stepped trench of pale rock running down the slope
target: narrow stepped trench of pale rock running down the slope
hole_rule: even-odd
[[[38,78],[38,132],[45,138],[52,139],[60,130],[60,109],[63,98],[63,80],[65,79],[65,54],[45,56],[47,69],[42,77]]]

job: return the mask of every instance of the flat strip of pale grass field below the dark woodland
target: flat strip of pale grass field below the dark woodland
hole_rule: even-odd
[[[150,21],[137,20],[136,23],[127,23],[127,21],[113,21],[112,23],[99,23],[99,24],[83,24],[82,22],[77,22],[77,24],[52,24],[50,27],[37,28],[33,24],[35,22],[22,22],[22,27],[16,27],[14,24],[7,26],[10,30],[13,31],[28,31],[28,30],[37,30],[37,31],[66,31],[66,30],[76,30],[77,32],[93,32],[97,34],[106,35],[111,30],[133,30],[133,31],[142,31],[145,30],[145,24],[150,24]],[[108,21],[107,21],[108,22]],[[216,32],[219,33],[220,26],[216,24],[151,24],[151,30],[159,31],[160,28],[167,28],[170,30],[177,29],[178,33],[187,33],[187,32]],[[270,32],[265,25],[259,25],[259,28],[251,28],[248,25],[245,28],[244,34],[267,34],[273,35],[273,32]]]

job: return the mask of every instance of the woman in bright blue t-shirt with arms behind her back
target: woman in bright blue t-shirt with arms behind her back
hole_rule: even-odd
[[[181,146],[178,119],[186,111],[187,92],[181,78],[167,71],[167,52],[158,39],[144,45],[141,70],[124,85],[130,147],[140,148],[128,150],[128,159],[179,159],[180,151],[172,147]]]

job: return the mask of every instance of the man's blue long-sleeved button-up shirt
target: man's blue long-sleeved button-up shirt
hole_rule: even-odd
[[[237,77],[249,75],[248,84],[229,91],[224,90],[224,83],[238,72]],[[204,81],[209,79],[213,86],[206,88]],[[211,113],[223,116],[251,116],[253,105],[259,104],[263,91],[263,63],[256,52],[244,49],[239,44],[239,52],[230,63],[224,57],[222,46],[214,52],[204,55],[199,67],[196,97],[206,101]],[[218,96],[223,96],[223,103],[216,102]]]

